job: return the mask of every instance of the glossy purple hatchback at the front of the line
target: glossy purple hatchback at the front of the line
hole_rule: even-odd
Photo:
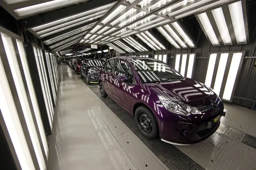
[[[111,58],[101,68],[99,87],[102,97],[109,95],[134,116],[143,135],[171,144],[208,138],[226,114],[211,88],[157,59]]]

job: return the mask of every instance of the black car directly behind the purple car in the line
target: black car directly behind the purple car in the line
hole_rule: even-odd
[[[102,59],[85,59],[81,65],[81,77],[85,77],[86,83],[98,83],[99,71],[105,61]]]

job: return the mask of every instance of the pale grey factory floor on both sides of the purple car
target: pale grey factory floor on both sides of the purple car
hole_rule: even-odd
[[[61,64],[58,72],[60,83],[53,134],[48,136],[48,170],[174,167],[170,161],[161,162],[85,85],[80,75],[66,64]],[[198,169],[256,170],[256,149],[238,139],[241,134],[256,136],[256,111],[229,103],[225,103],[225,109],[226,117],[222,117],[220,128],[212,136],[198,144],[176,147],[200,165]],[[168,145],[162,152],[166,150]]]

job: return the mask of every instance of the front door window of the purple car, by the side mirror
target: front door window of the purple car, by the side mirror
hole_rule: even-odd
[[[133,74],[131,72],[131,68],[125,61],[121,59],[117,61],[117,64],[115,67],[115,75],[118,75],[118,76],[125,75],[127,77],[127,81],[129,83],[133,83]]]

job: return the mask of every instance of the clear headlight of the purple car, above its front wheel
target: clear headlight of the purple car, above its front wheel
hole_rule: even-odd
[[[170,111],[171,113],[175,113],[178,115],[188,116],[191,114],[202,114],[196,107],[192,107],[182,103],[181,101],[174,101],[171,98],[163,97],[162,95],[158,95],[159,100],[162,105]]]

